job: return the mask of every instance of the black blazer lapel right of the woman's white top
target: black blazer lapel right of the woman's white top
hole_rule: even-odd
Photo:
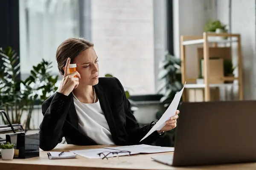
[[[110,105],[109,105],[109,102],[108,102],[108,98],[105,95],[103,89],[100,87],[99,84],[95,85],[94,88],[95,88],[95,92],[98,96],[99,103],[100,103],[100,106],[102,108],[102,111],[103,111],[103,113],[105,115],[105,118],[108,122],[108,126],[109,126],[109,129],[111,131],[112,138],[113,138],[115,143],[118,143],[116,124],[115,124],[113,114],[112,114],[112,111],[111,111],[111,108],[110,108]]]

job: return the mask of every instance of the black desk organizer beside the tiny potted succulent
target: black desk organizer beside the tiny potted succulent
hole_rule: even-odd
[[[0,133],[6,134],[6,139],[0,139],[0,143],[14,143],[15,154],[14,158],[26,159],[39,156],[39,133],[26,135],[23,133],[22,125],[12,124],[5,111],[0,111],[0,116],[6,117],[9,125],[0,125]],[[20,132],[20,133],[16,133]]]

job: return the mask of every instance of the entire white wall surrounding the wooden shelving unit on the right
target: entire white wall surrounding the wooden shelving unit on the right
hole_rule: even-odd
[[[229,24],[229,0],[174,0],[175,55],[180,57],[180,35],[202,35],[207,20]],[[256,99],[255,0],[232,0],[231,31],[241,34],[244,99]],[[186,47],[188,77],[197,77],[196,45]],[[233,44],[236,51],[236,44]],[[236,58],[236,53],[234,52]]]

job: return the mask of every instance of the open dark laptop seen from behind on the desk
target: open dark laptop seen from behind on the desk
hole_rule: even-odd
[[[183,102],[170,166],[256,162],[256,101]]]

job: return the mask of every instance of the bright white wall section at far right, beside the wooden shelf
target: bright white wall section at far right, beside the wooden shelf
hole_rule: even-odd
[[[255,0],[231,1],[231,33],[241,34],[244,99],[256,99],[256,10]],[[229,24],[229,1],[218,0],[217,18]],[[233,44],[236,57],[236,44]]]

